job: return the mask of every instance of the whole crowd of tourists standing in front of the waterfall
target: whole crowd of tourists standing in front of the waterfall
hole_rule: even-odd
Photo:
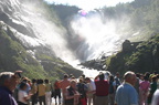
[[[51,83],[21,77],[21,71],[2,72],[0,105],[159,105],[158,78],[157,72],[99,72],[94,78],[64,74]]]

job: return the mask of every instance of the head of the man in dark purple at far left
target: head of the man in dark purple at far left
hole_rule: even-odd
[[[10,91],[13,91],[19,84],[19,76],[12,72],[2,72],[0,73],[0,86],[4,86]]]

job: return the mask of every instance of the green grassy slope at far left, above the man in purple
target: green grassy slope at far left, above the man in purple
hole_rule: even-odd
[[[7,31],[9,34],[11,33],[9,28]],[[13,41],[12,38],[8,35],[7,31],[2,28],[0,29],[0,70],[22,70],[25,76],[44,77],[46,72],[42,69],[40,63],[26,53],[25,49],[20,43]],[[39,74],[39,72],[41,74]]]

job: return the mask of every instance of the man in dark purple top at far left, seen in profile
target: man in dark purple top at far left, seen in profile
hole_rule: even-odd
[[[0,105],[18,105],[13,97],[13,91],[20,82],[21,71],[0,73]]]

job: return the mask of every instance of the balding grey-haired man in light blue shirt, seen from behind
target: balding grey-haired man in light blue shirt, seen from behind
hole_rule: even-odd
[[[134,85],[136,84],[136,74],[126,72],[124,83],[116,90],[115,105],[138,105],[138,94]]]

